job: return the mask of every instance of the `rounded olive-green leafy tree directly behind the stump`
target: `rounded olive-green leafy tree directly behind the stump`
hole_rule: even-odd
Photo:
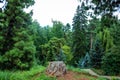
[[[42,55],[44,56],[44,62],[54,60],[64,60],[65,55],[62,50],[65,40],[63,38],[53,37],[47,44],[42,45]]]

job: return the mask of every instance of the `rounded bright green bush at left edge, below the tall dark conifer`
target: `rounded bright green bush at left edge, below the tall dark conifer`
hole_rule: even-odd
[[[34,43],[19,41],[16,42],[14,48],[5,52],[4,55],[0,55],[0,69],[11,70],[30,69],[34,63],[34,55],[36,48]]]

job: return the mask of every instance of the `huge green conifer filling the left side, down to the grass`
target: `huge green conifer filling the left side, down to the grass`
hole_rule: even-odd
[[[23,9],[34,4],[34,0],[8,0],[4,11],[4,29],[0,50],[0,68],[29,69],[36,52],[30,32],[32,18]]]

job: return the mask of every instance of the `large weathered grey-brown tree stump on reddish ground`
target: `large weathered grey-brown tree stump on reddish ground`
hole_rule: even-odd
[[[63,61],[52,61],[49,62],[49,65],[46,70],[47,74],[50,76],[62,76],[66,74],[66,66]]]

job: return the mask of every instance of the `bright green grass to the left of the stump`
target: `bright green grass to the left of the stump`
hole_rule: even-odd
[[[0,71],[0,80],[54,80],[44,74],[45,69],[43,66],[35,66],[29,71]]]

